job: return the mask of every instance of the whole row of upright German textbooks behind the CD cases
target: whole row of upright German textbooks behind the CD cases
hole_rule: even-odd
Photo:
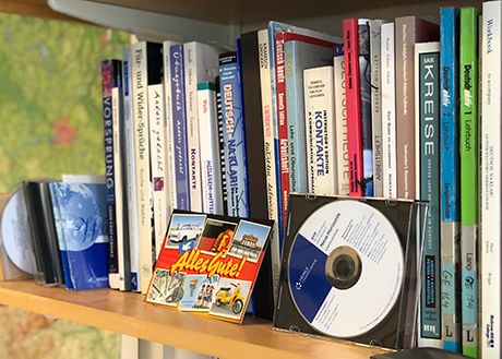
[[[440,25],[350,19],[342,37],[271,22],[236,52],[139,43],[104,62],[107,139],[123,152],[112,287],[144,289],[172,208],[274,219],[276,289],[289,192],[423,200],[419,344],[498,358],[501,12],[485,3],[479,26],[474,8],[442,9]]]

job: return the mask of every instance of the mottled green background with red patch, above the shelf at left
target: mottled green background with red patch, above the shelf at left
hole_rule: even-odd
[[[25,178],[104,173],[99,61],[130,35],[0,13],[0,192]]]

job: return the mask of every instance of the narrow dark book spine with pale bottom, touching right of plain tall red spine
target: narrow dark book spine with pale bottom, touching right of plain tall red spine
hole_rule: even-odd
[[[362,193],[373,196],[373,133],[371,119],[371,53],[368,20],[358,21],[359,91],[361,106]]]

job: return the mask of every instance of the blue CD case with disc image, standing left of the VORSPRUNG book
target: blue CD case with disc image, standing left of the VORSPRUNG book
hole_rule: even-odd
[[[105,184],[52,182],[49,189],[67,288],[108,288]]]

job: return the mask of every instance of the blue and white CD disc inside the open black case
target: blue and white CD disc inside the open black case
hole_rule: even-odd
[[[352,200],[313,212],[296,234],[288,280],[295,306],[315,331],[339,338],[381,323],[404,280],[399,237],[385,216]]]

